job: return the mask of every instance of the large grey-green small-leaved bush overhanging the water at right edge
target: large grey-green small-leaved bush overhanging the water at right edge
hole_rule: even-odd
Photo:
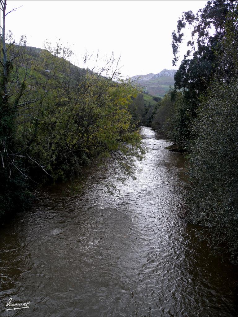
[[[215,81],[202,100],[190,144],[188,219],[237,261],[237,78]]]

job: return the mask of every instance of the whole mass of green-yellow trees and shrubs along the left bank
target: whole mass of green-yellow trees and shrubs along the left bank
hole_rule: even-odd
[[[5,1],[1,9],[6,16]],[[110,157],[122,182],[134,177],[145,152],[128,110],[137,91],[120,80],[114,56],[101,69],[78,68],[68,48],[16,44],[4,25],[1,212],[27,208],[35,184],[78,176],[94,158]]]

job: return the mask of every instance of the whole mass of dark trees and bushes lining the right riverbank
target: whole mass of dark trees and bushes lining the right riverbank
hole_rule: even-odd
[[[172,34],[174,64],[186,25],[189,50],[152,126],[189,157],[188,221],[237,262],[237,1],[184,12]]]

